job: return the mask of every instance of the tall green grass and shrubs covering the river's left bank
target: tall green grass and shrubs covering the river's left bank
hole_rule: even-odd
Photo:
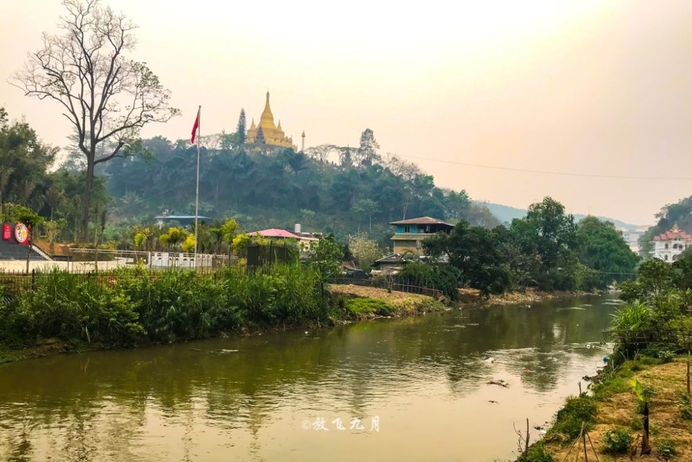
[[[0,285],[0,362],[57,351],[334,325],[441,307],[426,296],[410,295],[399,303],[332,294],[313,269],[301,265],[215,274],[151,273],[141,267],[93,275],[55,270],[35,274],[30,284]]]

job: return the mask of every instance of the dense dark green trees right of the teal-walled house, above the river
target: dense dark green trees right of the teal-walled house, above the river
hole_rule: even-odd
[[[577,224],[551,197],[531,204],[509,227],[485,229],[462,220],[424,247],[435,260],[448,256],[459,283],[486,295],[527,287],[593,290],[630,278],[638,260],[612,223],[587,217]]]

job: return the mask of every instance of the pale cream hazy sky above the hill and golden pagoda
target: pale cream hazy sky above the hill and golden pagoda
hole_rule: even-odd
[[[134,58],[183,112],[145,137],[188,138],[198,105],[203,135],[233,132],[269,89],[298,147],[302,130],[307,146],[353,146],[371,128],[383,154],[474,199],[550,195],[650,224],[692,195],[689,0],[104,1],[138,24]],[[0,105],[53,145],[70,133],[59,107],[7,79],[62,11],[0,0]]]

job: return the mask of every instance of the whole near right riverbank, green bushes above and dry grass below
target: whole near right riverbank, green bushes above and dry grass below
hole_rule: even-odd
[[[597,375],[585,377],[592,393],[568,398],[543,440],[518,461],[583,454],[582,432],[593,444],[588,460],[597,454],[605,461],[630,461],[637,454],[692,459],[692,256],[673,265],[647,260],[637,280],[621,289],[628,303],[613,314],[614,351]]]

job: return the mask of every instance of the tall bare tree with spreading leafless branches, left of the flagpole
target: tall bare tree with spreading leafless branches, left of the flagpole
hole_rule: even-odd
[[[101,0],[63,0],[61,35],[43,35],[43,48],[30,53],[24,69],[10,83],[26,96],[62,105],[86,158],[86,183],[80,217],[80,240],[86,242],[94,166],[127,152],[139,130],[150,122],[179,115],[170,107],[170,91],[143,62],[126,57],[135,45],[136,28]],[[98,154],[102,143],[111,147]]]

